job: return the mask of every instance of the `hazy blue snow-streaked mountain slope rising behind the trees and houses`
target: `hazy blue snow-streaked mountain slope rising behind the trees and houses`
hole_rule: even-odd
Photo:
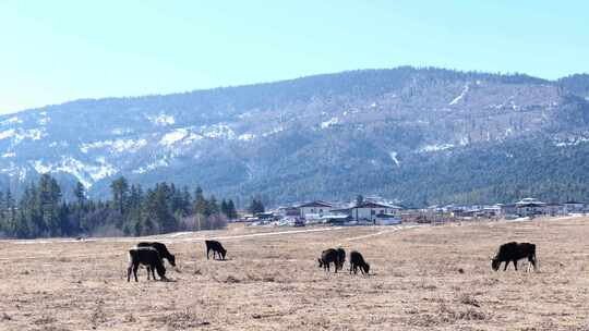
[[[399,68],[77,100],[0,117],[0,176],[17,188],[49,172],[97,196],[125,175],[276,201],[371,192],[420,203],[442,198],[416,193],[431,184],[420,186],[420,172],[455,167],[453,157],[472,150],[480,172],[448,172],[450,183],[472,177],[453,184],[454,196],[503,185],[484,174],[484,160],[510,144],[585,148],[589,107],[577,90],[525,75]]]

